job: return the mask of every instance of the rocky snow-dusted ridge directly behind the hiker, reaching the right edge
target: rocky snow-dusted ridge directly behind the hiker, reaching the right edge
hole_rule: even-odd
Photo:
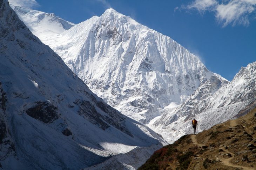
[[[256,62],[242,67],[231,82],[211,77],[187,101],[176,109],[166,111],[149,124],[169,142],[192,133],[191,120],[198,120],[199,131],[233,117],[240,111],[256,106]],[[246,113],[246,112],[244,112]]]

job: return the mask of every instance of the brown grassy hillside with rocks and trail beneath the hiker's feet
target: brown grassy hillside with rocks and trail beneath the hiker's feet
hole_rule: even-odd
[[[191,127],[192,128],[192,127]],[[256,108],[155,151],[139,170],[256,170]]]

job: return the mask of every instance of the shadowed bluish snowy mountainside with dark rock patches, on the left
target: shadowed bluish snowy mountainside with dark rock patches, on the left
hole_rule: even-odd
[[[93,94],[7,0],[0,0],[0,58],[1,168],[82,169],[137,146],[153,153],[164,142]]]

